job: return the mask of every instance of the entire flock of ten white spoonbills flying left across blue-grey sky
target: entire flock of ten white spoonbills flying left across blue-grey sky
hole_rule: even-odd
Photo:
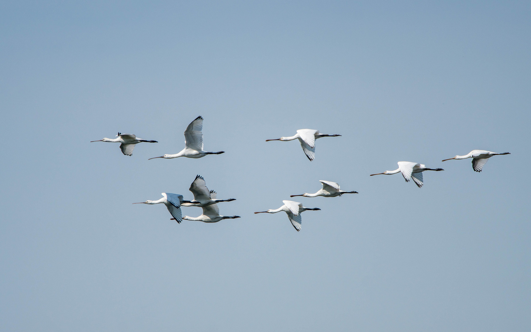
[[[187,157],[187,158],[202,158],[207,155],[219,155],[224,153],[225,151],[218,151],[218,152],[208,152],[203,150],[203,117],[198,116],[195,118],[194,121],[192,121],[184,131],[184,149],[181,150],[181,152],[178,152],[174,155],[164,155],[160,157],[153,157],[149,159],[155,159],[155,158],[165,158],[165,159],[171,159],[171,158],[177,158],[177,157]],[[321,134],[319,130],[313,130],[313,129],[299,129],[297,130],[297,133],[290,137],[281,137],[278,139],[269,139],[265,140],[267,141],[292,141],[295,139],[298,139],[301,143],[301,147],[304,151],[304,154],[306,157],[312,161],[315,158],[315,140],[321,137],[337,137],[341,136],[339,134]],[[133,155],[133,149],[135,147],[135,144],[138,144],[140,142],[148,142],[148,143],[157,143],[157,141],[153,140],[143,140],[138,137],[136,137],[133,134],[122,134],[118,133],[116,135],[117,138],[115,139],[108,139],[104,138],[97,141],[91,141],[91,142],[119,142],[120,149],[122,150],[122,153],[126,156],[132,156]],[[472,158],[472,168],[476,172],[481,172],[483,170],[483,166],[485,166],[486,162],[489,160],[490,157],[496,156],[496,155],[509,155],[509,152],[504,152],[502,154],[498,154],[496,152],[492,151],[486,151],[486,150],[472,150],[469,154],[464,156],[455,156],[453,158],[444,159],[442,161],[450,160],[450,159],[466,159],[466,158]],[[411,161],[398,161],[398,168],[395,169],[395,171],[385,171],[383,173],[376,173],[371,174],[373,175],[379,175],[379,174],[397,174],[401,173],[406,182],[409,182],[413,180],[415,184],[418,186],[418,188],[421,188],[424,184],[422,172],[424,171],[444,171],[442,168],[429,168],[426,167],[424,164],[417,164],[413,163]],[[303,197],[338,197],[342,194],[357,194],[357,191],[344,191],[339,188],[339,184],[336,182],[331,181],[324,181],[320,180],[319,182],[322,183],[323,188],[318,190],[316,193],[310,194],[310,193],[303,193],[300,195],[291,195],[290,197],[296,197],[296,196],[303,196]],[[181,223],[181,221],[184,220],[193,220],[193,221],[199,221],[203,223],[217,223],[220,220],[223,219],[235,219],[240,218],[239,216],[221,216],[219,214],[219,202],[230,202],[236,200],[235,198],[230,199],[217,199],[217,194],[213,190],[208,190],[207,184],[204,181],[204,178],[200,175],[197,175],[195,177],[195,180],[190,185],[189,189],[192,194],[194,195],[194,199],[184,200],[183,195],[179,194],[173,194],[173,193],[162,193],[162,198],[156,201],[147,200],[145,202],[139,202],[139,203],[133,203],[133,204],[159,204],[164,203],[166,208],[168,209],[170,215],[172,215],[173,218],[170,220],[175,220],[177,223]],[[267,211],[259,211],[254,212],[255,214],[259,213],[270,213],[274,214],[280,211],[286,212],[288,215],[289,221],[292,223],[293,227],[298,231],[301,230],[301,224],[302,224],[302,218],[301,213],[304,211],[312,210],[320,210],[319,208],[305,208],[302,206],[302,203],[295,202],[295,201],[288,201],[283,200],[281,207],[278,209],[269,209]],[[189,216],[182,216],[181,207],[200,207],[203,209],[203,213],[199,217],[189,217]]]

